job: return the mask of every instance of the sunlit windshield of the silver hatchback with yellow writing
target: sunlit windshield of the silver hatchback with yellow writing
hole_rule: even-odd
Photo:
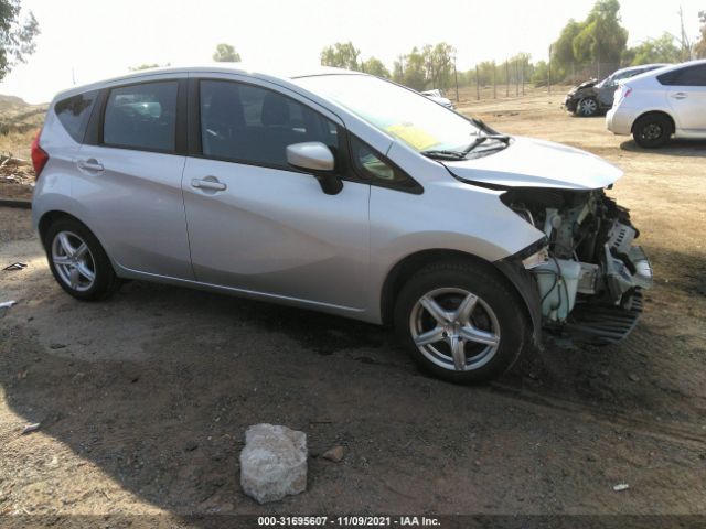
[[[463,150],[481,134],[471,121],[428,98],[367,75],[321,75],[296,79],[334,100],[417,151]]]

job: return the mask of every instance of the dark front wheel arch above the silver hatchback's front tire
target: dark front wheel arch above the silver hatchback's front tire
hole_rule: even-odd
[[[517,267],[513,266],[511,259],[502,259],[496,263],[493,263],[473,253],[460,250],[428,249],[410,253],[409,256],[400,259],[389,270],[385,281],[383,282],[381,292],[381,317],[383,325],[392,324],[394,320],[395,302],[402,288],[409,278],[428,264],[449,260],[472,262],[473,266],[483,268],[489,273],[498,277],[501,281],[505,281],[510,284],[517,295],[518,304],[523,314],[527,319],[527,323],[533,328],[535,343],[541,343],[542,316],[538,312],[538,294],[536,294],[536,288],[533,290],[533,283],[526,282],[528,279],[524,274],[526,273],[524,267],[520,266],[521,270],[517,270]],[[537,303],[536,306],[532,306],[535,296]]]

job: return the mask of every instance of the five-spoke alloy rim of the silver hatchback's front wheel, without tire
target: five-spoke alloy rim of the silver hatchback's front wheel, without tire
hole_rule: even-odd
[[[425,357],[456,371],[488,364],[501,339],[498,317],[490,305],[458,288],[436,289],[422,295],[409,315],[409,330]]]

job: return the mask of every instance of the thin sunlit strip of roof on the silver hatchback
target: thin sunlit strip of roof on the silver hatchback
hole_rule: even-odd
[[[312,77],[318,75],[367,75],[362,72],[353,72],[350,69],[334,68],[330,66],[315,66],[300,69],[276,69],[270,66],[263,66],[252,63],[205,63],[197,65],[179,65],[163,66],[156,68],[145,68],[137,72],[130,72],[125,75],[101,79],[86,85],[75,86],[66,90],[60,91],[55,96],[58,98],[71,97],[73,95],[83,94],[85,91],[98,90],[106,86],[117,83],[138,83],[149,77],[174,74],[240,74],[256,77],[265,80],[290,80],[300,77]]]

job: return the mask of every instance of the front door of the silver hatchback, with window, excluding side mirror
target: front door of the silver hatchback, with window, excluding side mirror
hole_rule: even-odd
[[[317,179],[286,161],[288,144],[320,141],[345,177],[343,123],[285,88],[243,80],[190,80],[193,152],[183,192],[196,279],[362,309],[370,185],[347,180],[339,194],[327,195]]]

